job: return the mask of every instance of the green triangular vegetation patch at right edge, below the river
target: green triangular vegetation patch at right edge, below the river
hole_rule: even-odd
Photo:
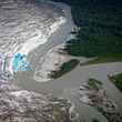
[[[115,84],[115,87],[122,92],[122,73],[116,75],[109,75],[109,79]]]

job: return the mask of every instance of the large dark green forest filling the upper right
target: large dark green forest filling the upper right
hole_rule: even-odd
[[[54,0],[71,6],[75,39],[67,42],[72,55],[98,57],[122,53],[121,0]],[[111,54],[112,55],[112,54]],[[113,54],[114,57],[114,54]]]

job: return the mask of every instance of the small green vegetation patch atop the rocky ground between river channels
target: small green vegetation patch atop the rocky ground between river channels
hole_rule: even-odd
[[[88,85],[89,85],[89,89],[99,90],[102,88],[102,82],[95,79],[89,79]]]

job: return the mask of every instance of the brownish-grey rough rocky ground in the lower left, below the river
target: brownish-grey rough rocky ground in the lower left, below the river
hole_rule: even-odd
[[[75,122],[77,119],[68,100],[0,81],[0,122]]]

